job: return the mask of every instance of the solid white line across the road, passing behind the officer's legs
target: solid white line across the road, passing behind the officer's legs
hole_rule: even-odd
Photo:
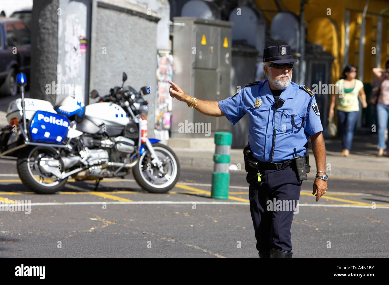
[[[112,204],[112,205],[187,205],[187,204],[199,204],[199,205],[249,205],[250,203],[245,202],[206,202],[206,201],[126,201],[126,202],[38,202],[31,203],[31,206],[65,206],[65,205],[102,205]],[[16,204],[17,205],[17,204]],[[359,205],[331,205],[331,204],[298,204],[298,206],[304,207],[343,207],[343,208],[365,208],[371,209],[371,206],[359,206]],[[376,209],[389,209],[389,206],[377,206]]]

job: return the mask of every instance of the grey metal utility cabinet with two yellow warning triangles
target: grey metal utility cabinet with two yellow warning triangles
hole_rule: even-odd
[[[183,23],[173,28],[173,81],[184,92],[201,100],[219,101],[230,97],[232,22],[195,17],[173,17]],[[230,131],[226,117],[211,117],[173,100],[172,137],[202,137],[179,133],[179,124],[210,123],[211,137],[216,131]]]

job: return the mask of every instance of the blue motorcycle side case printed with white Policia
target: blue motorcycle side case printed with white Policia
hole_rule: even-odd
[[[30,123],[33,142],[62,143],[69,129],[69,119],[60,114],[37,111]]]

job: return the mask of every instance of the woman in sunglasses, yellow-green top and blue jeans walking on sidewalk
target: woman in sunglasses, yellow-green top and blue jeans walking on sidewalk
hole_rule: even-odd
[[[346,157],[350,154],[354,128],[358,119],[358,96],[361,99],[362,107],[367,107],[363,83],[355,78],[356,75],[357,68],[352,64],[349,64],[343,69],[343,75],[340,77],[341,79],[335,83],[338,85],[338,90],[342,90],[342,94],[337,96],[336,114],[338,115],[338,134],[342,139],[343,147],[341,155]],[[332,94],[331,104],[329,105],[329,117],[334,115],[334,109],[335,94]]]

